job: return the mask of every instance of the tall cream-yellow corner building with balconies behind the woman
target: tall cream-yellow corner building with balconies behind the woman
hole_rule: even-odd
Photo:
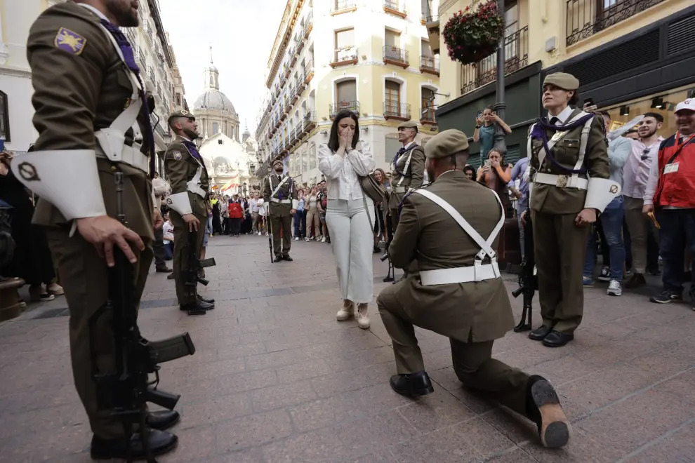
[[[416,121],[418,142],[437,131],[439,60],[432,55],[421,0],[289,0],[270,60],[256,139],[300,183],[321,179],[317,147],[342,109],[359,115],[376,166],[399,149],[397,126]]]

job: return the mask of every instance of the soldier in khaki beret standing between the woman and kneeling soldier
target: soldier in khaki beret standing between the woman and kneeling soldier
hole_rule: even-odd
[[[393,233],[398,227],[398,205],[404,194],[421,187],[425,177],[425,149],[415,142],[417,135],[418,124],[413,121],[398,126],[398,141],[403,147],[391,161],[391,192],[388,198]]]

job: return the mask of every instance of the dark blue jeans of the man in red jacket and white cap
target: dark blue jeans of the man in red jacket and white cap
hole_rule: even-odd
[[[663,259],[663,289],[682,293],[683,255],[687,248],[695,253],[695,209],[662,209],[658,212],[658,231]],[[695,260],[693,260],[695,262]],[[691,271],[694,264],[691,263]],[[695,294],[695,281],[690,284]]]

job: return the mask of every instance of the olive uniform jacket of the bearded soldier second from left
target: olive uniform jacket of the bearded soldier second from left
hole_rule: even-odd
[[[202,159],[195,158],[190,150],[183,144],[186,139],[176,137],[171,142],[164,153],[164,171],[171,185],[171,194],[188,192],[188,199],[191,201],[191,210],[195,215],[207,216],[208,214],[208,194],[205,197],[188,190],[188,182],[193,179],[201,168],[200,187],[207,192],[210,187],[208,170]]]

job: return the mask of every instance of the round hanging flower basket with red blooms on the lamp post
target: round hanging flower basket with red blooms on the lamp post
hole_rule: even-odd
[[[449,58],[470,65],[495,53],[504,36],[504,18],[499,13],[496,0],[478,5],[475,11],[454,13],[444,26],[444,43]]]

